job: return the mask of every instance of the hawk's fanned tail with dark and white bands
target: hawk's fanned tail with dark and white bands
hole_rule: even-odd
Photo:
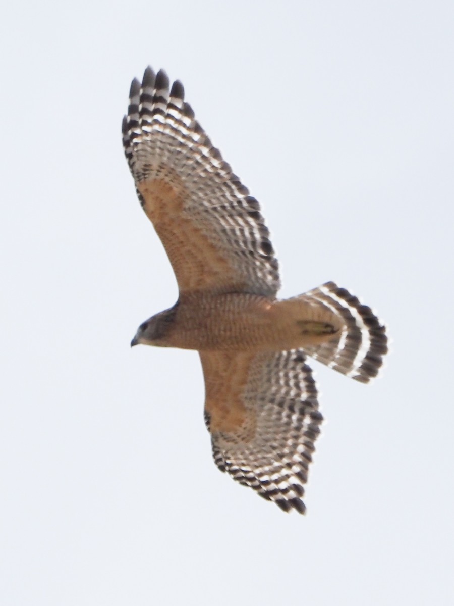
[[[334,282],[326,282],[303,297],[315,299],[341,316],[344,327],[332,341],[307,345],[309,356],[361,383],[378,375],[386,354],[386,327],[367,305]]]

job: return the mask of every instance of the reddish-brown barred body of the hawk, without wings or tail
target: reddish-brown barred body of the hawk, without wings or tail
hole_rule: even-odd
[[[197,351],[283,351],[330,341],[338,316],[300,298],[273,301],[259,295],[186,293],[159,319],[165,333],[150,345]],[[329,320],[329,322],[328,322]],[[147,344],[145,336],[137,342]]]

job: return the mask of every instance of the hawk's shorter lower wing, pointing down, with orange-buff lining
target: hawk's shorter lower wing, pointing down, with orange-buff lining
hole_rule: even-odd
[[[323,417],[303,351],[202,351],[200,359],[219,469],[283,510],[304,513],[303,485]]]

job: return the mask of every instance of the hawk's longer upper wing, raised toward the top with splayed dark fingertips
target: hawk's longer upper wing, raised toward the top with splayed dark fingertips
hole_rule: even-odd
[[[274,296],[278,264],[257,200],[212,147],[179,81],[162,70],[133,80],[123,145],[137,194],[176,274],[180,293]]]

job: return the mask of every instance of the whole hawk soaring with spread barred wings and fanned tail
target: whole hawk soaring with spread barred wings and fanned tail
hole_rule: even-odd
[[[131,346],[199,351],[205,422],[221,471],[285,511],[302,501],[323,421],[308,356],[367,383],[387,351],[370,307],[327,282],[280,300],[260,206],[163,70],[134,79],[123,146],[143,210],[169,257],[179,298]]]

